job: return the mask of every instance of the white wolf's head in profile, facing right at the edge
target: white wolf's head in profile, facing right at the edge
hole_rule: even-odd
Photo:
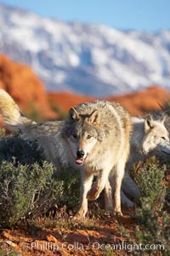
[[[152,150],[169,151],[170,143],[167,128],[164,126],[166,117],[162,120],[154,121],[151,116],[144,120],[144,139],[142,142],[142,151],[144,155]]]

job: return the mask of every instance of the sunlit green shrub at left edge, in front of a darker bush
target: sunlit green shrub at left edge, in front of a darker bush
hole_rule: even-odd
[[[31,165],[2,162],[0,171],[0,225],[13,226],[30,215],[43,213],[59,201],[62,184],[52,178],[48,162]]]

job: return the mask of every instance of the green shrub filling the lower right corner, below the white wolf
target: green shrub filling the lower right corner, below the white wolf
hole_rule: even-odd
[[[170,218],[164,208],[166,185],[163,184],[165,166],[146,163],[136,176],[141,191],[140,205],[136,209],[138,224],[132,236],[124,227],[120,230],[127,242],[145,245],[161,245],[161,250],[134,249],[131,255],[168,255],[170,250]]]

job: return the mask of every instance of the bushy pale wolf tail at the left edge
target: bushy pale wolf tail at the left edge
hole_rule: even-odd
[[[0,89],[0,114],[3,116],[3,123],[9,129],[22,128],[24,125],[36,123],[20,111],[19,106],[3,89]]]

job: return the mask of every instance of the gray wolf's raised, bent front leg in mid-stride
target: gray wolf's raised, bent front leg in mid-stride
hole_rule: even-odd
[[[99,173],[98,179],[94,182],[91,190],[88,192],[88,200],[93,201],[99,197],[99,194],[105,188],[105,184],[108,181],[108,176],[111,170],[103,170]]]

